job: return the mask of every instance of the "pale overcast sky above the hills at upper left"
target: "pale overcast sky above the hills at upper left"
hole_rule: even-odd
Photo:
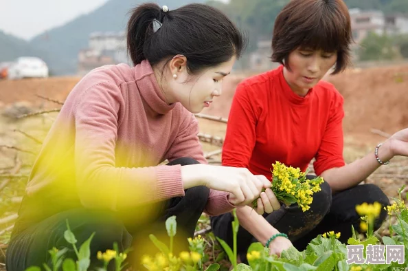
[[[0,30],[30,39],[95,10],[108,0],[0,0]]]

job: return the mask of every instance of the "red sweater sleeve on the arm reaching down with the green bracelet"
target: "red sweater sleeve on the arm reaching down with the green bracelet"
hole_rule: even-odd
[[[256,142],[256,111],[249,87],[240,83],[229,111],[227,133],[223,145],[223,165],[248,168]]]

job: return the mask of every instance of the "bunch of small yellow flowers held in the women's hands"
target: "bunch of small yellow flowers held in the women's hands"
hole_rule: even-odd
[[[313,180],[306,179],[306,173],[299,168],[286,166],[276,161],[272,165],[272,191],[275,193],[277,200],[290,206],[297,203],[304,212],[309,210],[313,202],[313,193],[321,190],[320,185],[324,182],[323,178],[315,177]],[[253,202],[256,207],[256,200]]]

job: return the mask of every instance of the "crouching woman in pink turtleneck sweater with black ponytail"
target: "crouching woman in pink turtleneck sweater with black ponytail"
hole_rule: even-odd
[[[134,67],[84,76],[50,129],[12,232],[8,271],[49,263],[53,247],[76,259],[66,220],[78,244],[95,232],[90,268],[114,242],[148,253],[148,235],[165,231],[172,215],[183,249],[203,211],[245,206],[271,185],[247,169],[209,166],[197,138],[193,113],[220,96],[245,45],[224,14],[146,3],[133,10],[127,43]]]

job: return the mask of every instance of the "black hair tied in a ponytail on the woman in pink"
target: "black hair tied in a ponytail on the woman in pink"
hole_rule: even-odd
[[[154,21],[161,28],[154,31]],[[150,65],[183,54],[190,73],[237,58],[246,39],[225,14],[204,4],[193,3],[164,12],[156,3],[144,3],[132,11],[128,21],[128,53],[134,65],[147,59]]]

